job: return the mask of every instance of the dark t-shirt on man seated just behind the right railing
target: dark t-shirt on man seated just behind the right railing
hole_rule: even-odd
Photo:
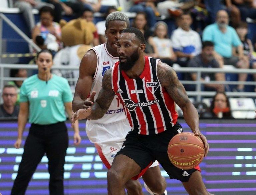
[[[201,54],[195,56],[194,58],[192,58],[191,60],[189,60],[188,62],[188,67],[190,68],[219,68],[219,63],[213,59],[211,60],[209,63],[204,63],[202,60],[202,56]],[[190,74],[189,74],[190,76]],[[201,77],[203,79],[210,79],[211,81],[215,81],[215,73],[207,73],[207,72],[202,72]],[[191,76],[189,78],[189,80],[192,80]]]

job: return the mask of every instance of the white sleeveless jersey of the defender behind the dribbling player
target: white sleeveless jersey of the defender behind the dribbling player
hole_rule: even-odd
[[[110,55],[110,53],[107,51],[106,43],[95,46],[92,48],[92,50],[97,55],[97,68],[96,68],[95,75],[93,77],[93,83],[92,83],[92,89],[91,89],[91,93],[93,91],[96,91],[96,95],[94,97],[94,100],[96,100],[102,88],[103,75],[108,69],[112,68],[112,66],[119,60],[119,58]],[[87,120],[87,122],[108,124],[108,123],[113,123],[113,122],[123,120],[125,118],[126,116],[123,110],[123,106],[120,103],[117,95],[115,95],[108,111],[105,113],[105,115],[102,118],[97,120]]]

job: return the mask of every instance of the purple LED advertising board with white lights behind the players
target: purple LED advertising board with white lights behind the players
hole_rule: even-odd
[[[184,131],[189,131],[184,120],[179,120]],[[23,143],[29,124],[24,131]],[[64,185],[66,195],[106,195],[106,167],[102,164],[94,145],[85,132],[85,121],[80,121],[82,143],[75,147],[70,123],[69,148],[65,158]],[[216,195],[256,194],[256,119],[255,120],[206,120],[200,119],[200,129],[207,137],[210,152],[200,164],[204,183]],[[15,149],[17,122],[0,121],[0,193],[9,195],[17,175],[23,148]],[[46,156],[38,165],[27,189],[27,195],[47,195],[49,174]],[[181,182],[170,180],[165,171],[167,191],[185,195]],[[140,179],[140,182],[143,181]],[[145,194],[147,192],[143,189]]]

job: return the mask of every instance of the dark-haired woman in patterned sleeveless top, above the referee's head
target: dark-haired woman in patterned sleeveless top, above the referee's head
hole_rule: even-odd
[[[39,10],[40,22],[33,29],[32,39],[41,49],[58,51],[63,47],[61,42],[61,28],[53,22],[54,11],[48,6]]]

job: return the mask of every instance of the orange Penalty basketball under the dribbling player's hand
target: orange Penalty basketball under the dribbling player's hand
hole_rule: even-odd
[[[175,167],[185,170],[192,169],[203,160],[203,141],[193,133],[179,133],[169,142],[168,156]]]

